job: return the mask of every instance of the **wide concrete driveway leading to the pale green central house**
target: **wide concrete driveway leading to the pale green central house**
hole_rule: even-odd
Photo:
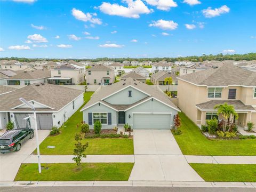
[[[204,181],[187,163],[170,130],[133,130],[134,166],[129,180]]]

